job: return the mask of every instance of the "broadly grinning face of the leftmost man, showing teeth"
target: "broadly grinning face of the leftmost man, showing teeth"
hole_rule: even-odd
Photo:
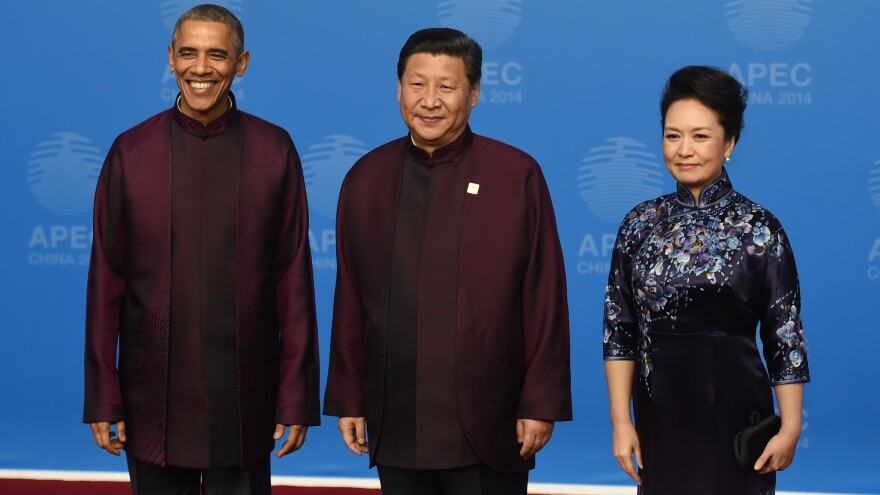
[[[226,24],[184,21],[168,47],[168,63],[180,88],[180,110],[205,125],[223,115],[232,80],[244,75],[248,60],[247,51],[236,50]]]

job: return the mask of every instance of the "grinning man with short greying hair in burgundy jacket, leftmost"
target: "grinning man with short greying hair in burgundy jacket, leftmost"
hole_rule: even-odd
[[[83,420],[139,495],[268,494],[275,440],[289,427],[276,455],[297,450],[320,420],[302,170],[236,107],[243,44],[228,10],[184,13],[176,105],[122,133],[98,181]]]

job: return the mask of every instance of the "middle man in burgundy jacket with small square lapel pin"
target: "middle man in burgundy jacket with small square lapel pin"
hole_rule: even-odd
[[[397,66],[409,135],[340,192],[324,412],[386,495],[524,494],[571,419],[553,207],[535,160],[468,126],[481,61],[459,31],[413,34]]]

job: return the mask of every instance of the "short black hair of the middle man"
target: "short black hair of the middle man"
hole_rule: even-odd
[[[471,86],[480,82],[483,75],[483,49],[480,44],[457,29],[428,28],[413,33],[397,58],[397,80],[403,78],[406,62],[416,53],[449,55],[464,61],[464,72]]]

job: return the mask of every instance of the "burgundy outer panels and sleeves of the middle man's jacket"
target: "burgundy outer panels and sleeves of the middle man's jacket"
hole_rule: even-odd
[[[365,416],[373,446],[381,437],[391,251],[408,140],[380,146],[355,163],[337,210],[324,413]],[[462,212],[455,342],[461,424],[483,462],[525,471],[534,458],[519,456],[517,418],[572,417],[556,220],[541,169],[527,154],[475,135],[462,160],[471,161],[469,181],[479,191],[466,195]]]

